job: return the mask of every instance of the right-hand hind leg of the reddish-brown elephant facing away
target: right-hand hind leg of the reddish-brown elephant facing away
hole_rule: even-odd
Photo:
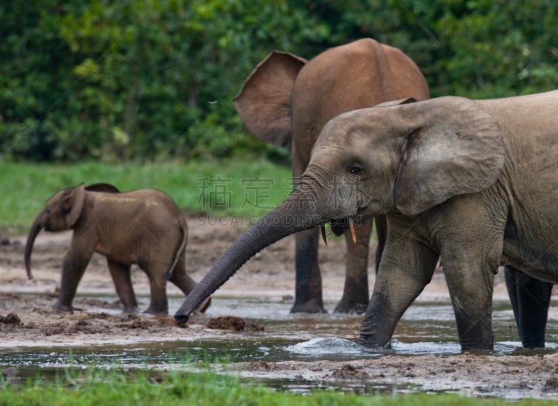
[[[356,243],[353,243],[349,231],[345,232],[347,243],[347,269],[345,288],[335,313],[363,314],[368,308],[370,293],[368,291],[368,251],[372,219],[364,220],[355,227]]]

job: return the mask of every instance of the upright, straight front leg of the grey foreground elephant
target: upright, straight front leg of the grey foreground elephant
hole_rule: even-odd
[[[490,190],[444,202],[432,214],[462,349],[492,349],[492,290],[507,207]],[[486,202],[499,202],[498,206]]]

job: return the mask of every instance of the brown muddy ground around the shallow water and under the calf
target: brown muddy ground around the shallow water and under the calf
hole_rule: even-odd
[[[226,223],[226,222],[225,222]],[[229,246],[242,227],[209,225],[207,219],[188,218],[188,271],[199,280]],[[222,337],[235,340],[239,333],[209,329],[206,317],[193,317],[186,326],[168,317],[123,315],[103,257],[95,255],[74,301],[73,314],[51,309],[60,283],[61,260],[69,245],[70,233],[39,234],[33,251],[33,280],[28,280],[23,263],[26,236],[0,236],[0,352],[14,347],[48,347],[137,343],[138,341],[185,340]],[[216,296],[279,296],[292,301],[294,293],[294,238],[289,237],[259,253],[236,273]],[[373,247],[372,247],[373,249]],[[320,249],[324,273],[324,296],[340,298],[344,281],[345,243],[333,241]],[[370,261],[370,270],[373,264]],[[372,272],[373,274],[373,272]],[[373,275],[370,280],[372,286]],[[149,294],[147,278],[133,269],[138,295]],[[181,296],[176,287],[169,295]],[[91,300],[84,294],[106,294]],[[437,271],[423,296],[447,296],[442,272]],[[504,297],[502,276],[497,276],[495,296]],[[331,309],[330,309],[331,310]],[[319,317],[319,315],[316,315]],[[295,326],[294,326],[295,328]],[[250,331],[243,331],[243,335]],[[241,363],[246,377],[301,379],[302,381],[374,381],[379,384],[416,385],[423,390],[460,390],[475,396],[506,398],[558,398],[558,354],[531,356],[382,356],[354,361],[258,361]],[[516,393],[517,396],[513,396]]]

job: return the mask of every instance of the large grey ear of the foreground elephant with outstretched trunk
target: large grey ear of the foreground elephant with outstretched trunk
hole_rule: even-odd
[[[401,213],[422,213],[498,179],[504,165],[502,130],[478,102],[448,96],[396,108],[410,126],[395,183]]]

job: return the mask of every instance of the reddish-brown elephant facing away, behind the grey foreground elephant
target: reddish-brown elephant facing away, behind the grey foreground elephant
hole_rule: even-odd
[[[329,119],[407,97],[429,97],[428,84],[416,64],[395,47],[361,38],[330,48],[310,61],[287,52],[271,52],[252,71],[234,105],[252,135],[292,151],[292,174],[297,179],[306,170],[312,146]],[[386,236],[385,216],[376,218],[376,229],[377,269]],[[346,239],[345,288],[336,313],[364,313],[368,306],[371,231],[372,219],[356,227],[356,243]],[[291,313],[325,313],[319,234],[306,230],[295,239],[296,287]]]

